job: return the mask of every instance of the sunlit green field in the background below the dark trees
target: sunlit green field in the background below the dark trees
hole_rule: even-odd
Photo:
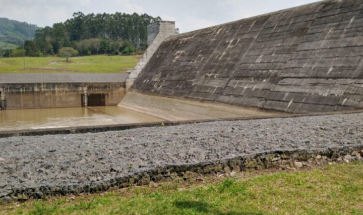
[[[25,72],[120,73],[134,68],[140,56],[87,56],[71,58],[25,58]],[[0,73],[24,73],[23,58],[0,59]]]

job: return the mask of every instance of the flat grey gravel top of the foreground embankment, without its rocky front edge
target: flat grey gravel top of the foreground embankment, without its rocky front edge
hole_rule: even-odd
[[[0,138],[0,193],[14,188],[81,186],[166,165],[193,165],[258,152],[362,144],[363,114]]]

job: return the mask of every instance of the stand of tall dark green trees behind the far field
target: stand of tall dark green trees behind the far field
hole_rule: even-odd
[[[137,13],[132,15],[74,13],[73,18],[66,22],[35,30],[34,40],[25,41],[25,55],[28,57],[57,55],[59,49],[63,47],[73,47],[81,56],[105,53],[139,54],[147,48],[147,26],[158,20],[161,18]],[[23,55],[22,47],[12,51],[1,51],[4,57]]]

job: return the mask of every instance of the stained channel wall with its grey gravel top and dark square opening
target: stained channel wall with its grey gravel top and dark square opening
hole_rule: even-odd
[[[1,105],[11,109],[117,105],[127,74],[3,74]]]

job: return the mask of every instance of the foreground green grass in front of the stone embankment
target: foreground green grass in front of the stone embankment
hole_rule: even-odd
[[[240,177],[240,175],[237,175]],[[1,214],[363,214],[363,164],[163,183],[0,206]]]

